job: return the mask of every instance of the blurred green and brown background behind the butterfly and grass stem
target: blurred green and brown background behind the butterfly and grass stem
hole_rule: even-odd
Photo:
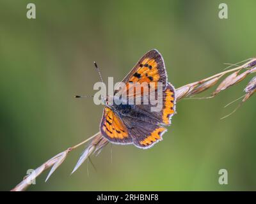
[[[28,3],[36,4],[35,20],[26,18]],[[169,81],[180,87],[219,73],[223,62],[255,56],[256,2],[226,0],[228,19],[218,18],[220,3],[1,0],[0,189],[12,189],[28,169],[99,131],[103,106],[73,98],[95,92],[93,61],[104,80],[118,82],[157,48]],[[256,98],[220,120],[234,110],[223,106],[242,96],[248,80],[214,99],[180,101],[154,148],[108,145],[92,157],[97,171],[85,162],[70,176],[81,147],[47,183],[45,172],[29,190],[256,190]],[[228,170],[228,185],[218,184],[221,168]]]

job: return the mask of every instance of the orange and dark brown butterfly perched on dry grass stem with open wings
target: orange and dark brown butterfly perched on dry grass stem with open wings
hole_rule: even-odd
[[[127,85],[126,87],[135,82],[136,84],[144,82],[148,87],[155,83],[155,91],[159,89],[157,83],[160,82],[163,90],[161,94],[163,106],[159,112],[152,112],[151,103],[109,105],[107,98],[100,122],[100,132],[111,143],[133,144],[141,149],[148,149],[162,140],[163,134],[167,131],[166,126],[170,126],[172,116],[175,114],[175,88],[167,80],[162,55],[156,49],[148,51],[122,82]],[[134,88],[131,87],[129,89]],[[114,92],[114,97],[116,94],[117,91]]]

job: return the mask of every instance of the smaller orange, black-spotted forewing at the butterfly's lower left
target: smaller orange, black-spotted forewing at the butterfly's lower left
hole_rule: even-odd
[[[124,122],[108,107],[104,108],[100,131],[110,142],[122,144],[132,143],[132,138],[129,136]]]

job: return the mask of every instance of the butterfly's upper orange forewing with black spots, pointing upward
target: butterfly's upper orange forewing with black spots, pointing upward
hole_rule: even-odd
[[[150,88],[150,82],[152,82],[154,83],[154,89],[157,89],[157,82],[161,82],[164,89],[167,82],[167,75],[162,55],[156,49],[147,52],[122,82],[126,85],[127,95],[131,95],[129,94],[131,89],[134,89],[132,95],[136,95],[136,82],[139,84],[145,82],[144,84],[147,85],[147,88]],[[123,88],[119,91],[123,92],[124,90]],[[141,89],[141,93],[143,93],[143,88]]]

